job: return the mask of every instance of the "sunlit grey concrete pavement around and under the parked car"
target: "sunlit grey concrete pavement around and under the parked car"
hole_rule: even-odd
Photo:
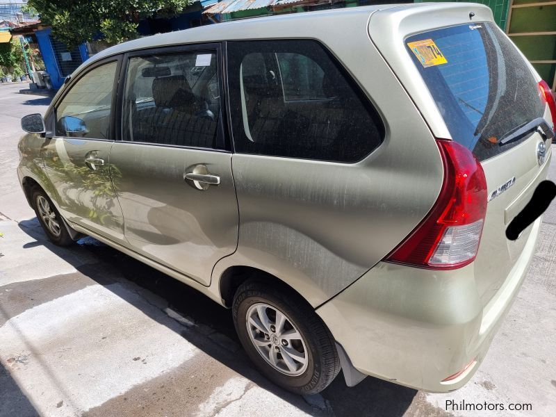
[[[17,184],[15,145],[19,118],[49,99],[19,88],[0,85],[0,417],[556,415],[554,204],[518,300],[463,389],[370,377],[347,389],[339,375],[302,398],[252,368],[226,309],[92,238],[47,242]],[[532,411],[446,411],[446,400]]]

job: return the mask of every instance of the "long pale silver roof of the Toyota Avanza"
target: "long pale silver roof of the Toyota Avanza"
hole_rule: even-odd
[[[370,33],[373,29],[371,26],[381,27],[378,35],[381,40],[385,37],[397,38],[400,24],[407,21],[408,17],[425,26],[441,27],[449,25],[454,19],[460,23],[467,22],[465,19],[469,19],[469,10],[477,15],[477,22],[492,20],[492,10],[480,3],[395,3],[234,20],[122,42],[90,57],[72,76],[104,58],[159,47],[223,40],[288,38],[313,39],[325,46],[336,44],[337,47],[338,41],[345,39],[349,42],[350,38],[358,36],[365,36],[369,42],[371,38],[376,41],[376,37]],[[372,16],[377,16],[377,22],[373,22]],[[352,53],[357,55],[358,51]],[[63,90],[65,88],[60,88],[56,97]]]

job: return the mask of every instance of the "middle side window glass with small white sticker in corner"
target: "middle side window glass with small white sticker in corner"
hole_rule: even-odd
[[[184,52],[129,59],[123,140],[212,148],[219,113],[216,54]]]

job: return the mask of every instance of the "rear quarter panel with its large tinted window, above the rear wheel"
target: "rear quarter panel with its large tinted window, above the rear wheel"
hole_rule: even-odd
[[[412,140],[430,131],[358,27],[350,49],[332,52],[332,34],[227,42],[240,231],[215,274],[259,268],[316,306],[384,258],[434,203],[441,161]]]

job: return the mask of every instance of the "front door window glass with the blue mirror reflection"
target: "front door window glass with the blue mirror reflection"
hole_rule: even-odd
[[[56,136],[110,139],[110,117],[117,62],[82,76],[56,107]]]

